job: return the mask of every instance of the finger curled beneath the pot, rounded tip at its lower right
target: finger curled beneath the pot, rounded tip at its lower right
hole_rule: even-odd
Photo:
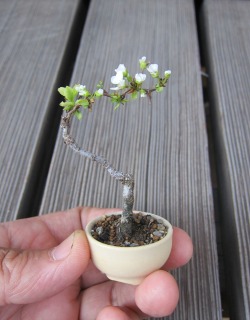
[[[124,312],[124,308],[137,317],[162,317],[173,312],[178,299],[179,290],[174,278],[166,271],[159,270],[139,286],[107,281],[86,289],[82,294],[80,319],[94,320],[105,312]],[[106,309],[110,306],[119,310]]]

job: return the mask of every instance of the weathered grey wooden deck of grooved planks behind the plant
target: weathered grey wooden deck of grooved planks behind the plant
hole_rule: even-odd
[[[136,209],[191,235],[194,257],[174,273],[180,303],[166,319],[221,320],[224,292],[230,319],[249,319],[249,14],[241,0],[0,2],[1,221],[121,206],[116,181],[63,144],[57,87],[108,87],[119,63],[137,72],[145,55],[171,69],[164,93],[115,112],[101,100],[74,135],[134,172]]]

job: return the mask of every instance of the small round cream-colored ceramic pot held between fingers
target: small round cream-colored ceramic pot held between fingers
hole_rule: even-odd
[[[138,285],[151,272],[160,269],[170,255],[173,235],[171,224],[160,216],[145,212],[142,214],[161,219],[168,227],[167,235],[155,243],[144,246],[117,247],[101,243],[91,235],[93,226],[103,217],[90,221],[86,226],[92,261],[111,280]]]

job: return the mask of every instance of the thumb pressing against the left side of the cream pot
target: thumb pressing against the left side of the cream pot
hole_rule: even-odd
[[[0,248],[0,305],[32,303],[53,296],[80,277],[89,258],[83,230],[50,250]]]

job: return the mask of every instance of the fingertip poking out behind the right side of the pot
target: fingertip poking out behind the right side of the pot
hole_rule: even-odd
[[[189,235],[182,229],[174,227],[173,244],[164,270],[171,270],[188,263],[193,255],[193,243]]]

